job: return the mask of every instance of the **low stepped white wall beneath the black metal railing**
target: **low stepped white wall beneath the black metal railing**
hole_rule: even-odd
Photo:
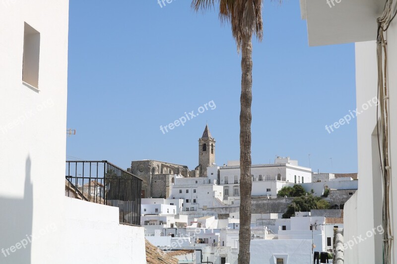
[[[146,262],[144,228],[120,224],[118,208],[63,199],[65,221],[58,239],[65,248],[54,252],[54,263]]]

